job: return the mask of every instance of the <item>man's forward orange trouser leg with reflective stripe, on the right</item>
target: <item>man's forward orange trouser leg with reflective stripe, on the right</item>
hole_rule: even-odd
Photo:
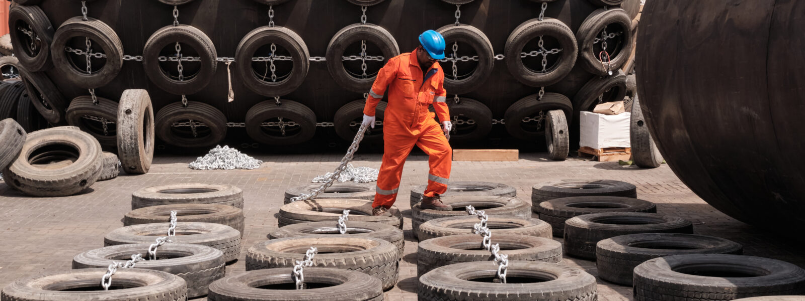
[[[431,167],[427,175],[427,189],[424,196],[433,197],[435,194],[443,194],[448,190],[448,179],[452,167],[452,148],[444,137],[444,132],[436,121],[432,121],[431,126],[422,136],[419,137],[416,145],[427,153],[428,165]]]

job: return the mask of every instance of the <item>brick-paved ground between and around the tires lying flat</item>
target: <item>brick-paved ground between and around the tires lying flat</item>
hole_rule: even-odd
[[[25,197],[0,184],[0,287],[14,279],[45,270],[67,270],[72,257],[103,246],[103,236],[122,226],[130,211],[130,194],[149,185],[182,182],[226,183],[241,187],[246,199],[244,250],[266,239],[277,227],[275,214],[283,203],[283,191],[308,183],[319,174],[332,171],[339,155],[257,156],[265,161],[257,170],[194,171],[187,168],[193,157],[157,157],[151,173],[123,175],[98,182],[93,191],[72,197]],[[530,200],[532,185],[540,181],[569,178],[613,179],[638,186],[638,197],[658,204],[658,212],[689,218],[697,234],[729,238],[745,246],[745,254],[777,258],[805,266],[805,254],[785,238],[737,222],[713,209],[691,193],[667,165],[658,169],[624,167],[614,162],[548,161],[544,154],[521,154],[517,162],[454,162],[452,181],[496,181],[513,185],[518,197]],[[359,155],[355,166],[380,166],[379,155]],[[427,157],[409,159],[398,207],[405,220],[405,257],[400,265],[397,287],[386,292],[386,300],[416,299],[416,240],[411,237],[411,210],[407,189],[424,184]],[[245,270],[244,254],[227,275]],[[565,258],[565,264],[580,266],[597,275],[595,262]],[[599,300],[630,300],[631,288],[598,282]]]

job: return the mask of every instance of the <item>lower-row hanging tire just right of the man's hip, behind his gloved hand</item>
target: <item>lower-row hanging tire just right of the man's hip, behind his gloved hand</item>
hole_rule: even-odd
[[[461,97],[458,104],[448,100],[448,108],[453,125],[450,142],[476,142],[492,132],[492,110],[480,101]]]

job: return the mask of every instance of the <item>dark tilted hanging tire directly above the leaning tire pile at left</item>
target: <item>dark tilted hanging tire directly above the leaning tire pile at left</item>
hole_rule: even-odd
[[[51,124],[61,124],[64,121],[64,96],[44,72],[31,72],[25,67],[19,67],[19,76],[25,83],[28,98],[34,104],[36,111]]]

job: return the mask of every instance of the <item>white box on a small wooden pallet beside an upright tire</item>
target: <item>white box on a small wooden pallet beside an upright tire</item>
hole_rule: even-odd
[[[581,112],[579,146],[588,148],[630,148],[632,113],[604,115]]]

